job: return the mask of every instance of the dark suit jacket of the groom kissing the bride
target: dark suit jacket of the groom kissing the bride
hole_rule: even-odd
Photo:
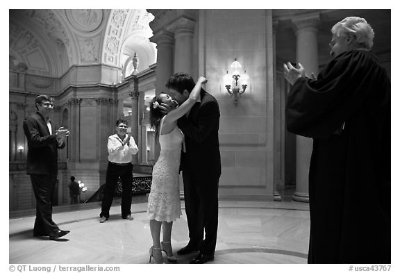
[[[218,179],[221,176],[219,154],[219,106],[212,95],[201,90],[201,102],[194,104],[189,117],[178,119],[185,135],[186,152],[182,152],[181,169],[198,177]]]

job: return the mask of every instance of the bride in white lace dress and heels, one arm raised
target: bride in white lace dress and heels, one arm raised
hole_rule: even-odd
[[[161,251],[165,251],[169,262],[177,260],[172,254],[171,231],[172,222],[182,215],[178,175],[183,133],[179,130],[176,122],[194,106],[200,96],[201,85],[206,82],[206,78],[199,77],[189,98],[181,106],[167,114],[159,106],[163,103],[173,107],[178,106],[172,97],[160,93],[151,100],[150,124],[156,131],[156,139],[158,138],[160,142],[161,151],[153,167],[153,178],[147,204],[151,237],[153,238],[153,247],[149,250],[149,262],[153,258],[155,263],[163,263]],[[160,243],[161,226],[163,226],[163,242]]]

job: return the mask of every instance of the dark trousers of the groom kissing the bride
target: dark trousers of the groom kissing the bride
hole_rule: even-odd
[[[201,253],[210,256],[214,255],[217,244],[218,183],[219,178],[201,179],[183,171],[185,211],[190,238],[188,245],[199,246]]]

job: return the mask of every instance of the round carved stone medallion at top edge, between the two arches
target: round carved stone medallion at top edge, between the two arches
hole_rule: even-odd
[[[103,21],[103,10],[66,10],[69,23],[82,32],[95,31]]]

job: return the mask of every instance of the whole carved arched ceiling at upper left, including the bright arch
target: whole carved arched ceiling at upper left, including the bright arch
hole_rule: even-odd
[[[10,60],[29,74],[60,77],[72,65],[122,68],[135,51],[142,69],[156,61],[153,15],[144,9],[10,10],[9,18]]]

